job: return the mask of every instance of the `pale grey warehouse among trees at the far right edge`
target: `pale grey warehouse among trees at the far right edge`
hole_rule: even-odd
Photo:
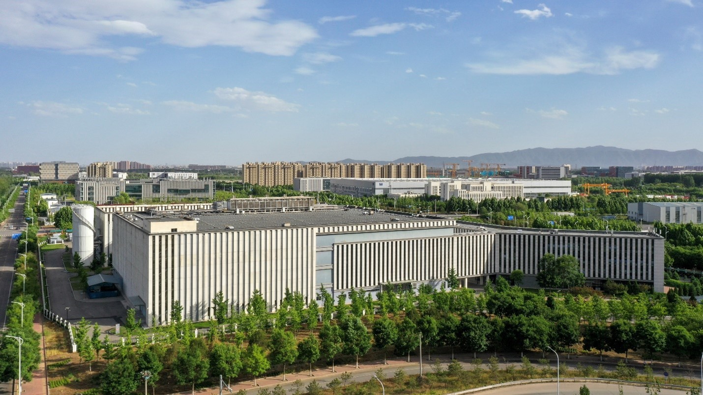
[[[627,217],[633,221],[664,224],[703,224],[703,202],[638,202],[627,204]]]

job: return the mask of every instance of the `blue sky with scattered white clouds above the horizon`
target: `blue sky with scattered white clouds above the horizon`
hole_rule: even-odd
[[[0,160],[702,149],[702,10],[703,0],[2,1]]]

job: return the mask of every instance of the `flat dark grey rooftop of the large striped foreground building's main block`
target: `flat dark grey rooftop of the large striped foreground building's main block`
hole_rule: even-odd
[[[266,212],[235,214],[234,212],[131,212],[124,214],[131,216],[137,226],[145,228],[147,221],[182,221],[184,219],[197,220],[198,231],[214,230],[244,230],[280,228],[282,226],[333,226],[351,224],[382,224],[386,222],[411,222],[430,221],[431,219],[390,214],[388,212],[373,212],[368,209],[340,209],[313,212]],[[435,219],[436,220],[436,219]],[[141,223],[140,223],[141,222]],[[290,224],[290,225],[289,225]]]

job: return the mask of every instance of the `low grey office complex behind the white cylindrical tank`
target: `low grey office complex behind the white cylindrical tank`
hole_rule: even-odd
[[[120,193],[131,199],[145,202],[162,202],[183,199],[212,200],[214,181],[193,179],[144,179],[117,178],[86,179],[76,182],[76,200],[105,205]]]

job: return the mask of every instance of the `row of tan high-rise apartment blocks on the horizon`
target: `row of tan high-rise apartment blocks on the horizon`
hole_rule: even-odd
[[[322,163],[268,162],[242,165],[245,183],[262,186],[292,185],[293,179],[415,179],[427,177],[427,166],[421,163]]]

